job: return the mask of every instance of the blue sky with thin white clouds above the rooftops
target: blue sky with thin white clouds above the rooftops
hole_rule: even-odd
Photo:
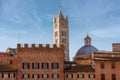
[[[86,32],[99,50],[120,42],[120,0],[0,0],[0,51],[22,44],[52,44],[53,18],[69,16],[70,57],[84,45]]]

